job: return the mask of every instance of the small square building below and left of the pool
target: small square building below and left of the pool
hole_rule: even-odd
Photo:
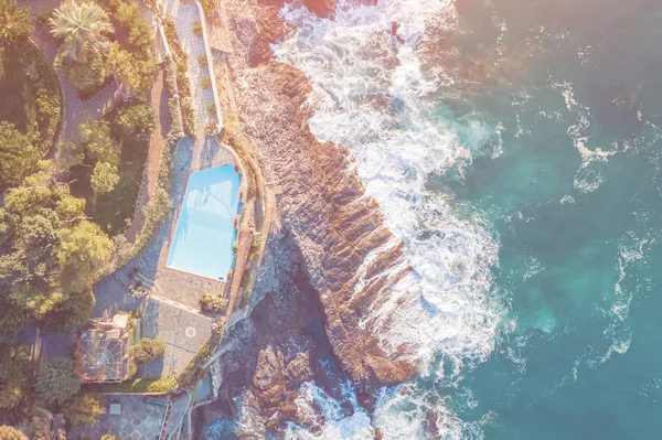
[[[95,319],[81,333],[81,382],[119,383],[129,378],[128,314]]]

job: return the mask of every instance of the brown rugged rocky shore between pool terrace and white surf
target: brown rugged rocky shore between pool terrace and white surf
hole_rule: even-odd
[[[415,344],[386,350],[373,330],[372,312],[409,270],[403,244],[365,193],[349,150],[310,132],[308,78],[273,61],[269,43],[291,31],[278,14],[282,3],[225,1],[234,53],[222,88],[232,88],[244,135],[267,180],[278,181],[284,193],[253,309],[222,342],[220,398],[194,414],[196,438],[221,417],[238,419],[248,437],[288,421],[316,431],[321,416],[302,415],[295,401],[302,384],[314,382],[351,415],[338,385],[349,379],[370,412],[377,389],[403,383],[417,366]],[[333,0],[302,3],[321,17],[334,8]],[[381,320],[388,325],[388,314]]]

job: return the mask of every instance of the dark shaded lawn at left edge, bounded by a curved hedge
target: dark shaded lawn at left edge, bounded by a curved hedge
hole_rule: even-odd
[[[62,119],[62,90],[55,71],[31,40],[0,49],[0,120],[12,122],[51,151]]]

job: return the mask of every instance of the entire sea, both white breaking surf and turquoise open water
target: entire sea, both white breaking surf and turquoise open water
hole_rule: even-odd
[[[366,325],[421,367],[322,437],[662,438],[662,2],[338,3],[274,49],[406,244]]]

